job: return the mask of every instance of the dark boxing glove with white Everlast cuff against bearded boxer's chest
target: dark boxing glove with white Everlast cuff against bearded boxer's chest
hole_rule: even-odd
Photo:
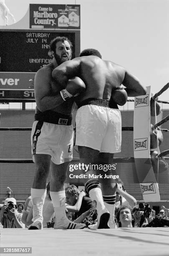
[[[68,80],[68,83],[66,85],[66,88],[61,90],[61,97],[63,100],[68,100],[71,97],[78,96],[81,92],[83,92],[86,89],[86,86],[81,78],[79,77],[73,77],[72,79]]]

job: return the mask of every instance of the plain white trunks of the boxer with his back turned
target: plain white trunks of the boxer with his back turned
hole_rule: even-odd
[[[121,152],[121,113],[100,105],[83,105],[76,113],[77,146],[103,153]]]

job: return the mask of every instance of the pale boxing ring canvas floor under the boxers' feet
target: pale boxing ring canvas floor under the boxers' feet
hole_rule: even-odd
[[[169,228],[4,228],[1,230],[0,246],[32,247],[31,254],[14,254],[18,256],[169,256]]]

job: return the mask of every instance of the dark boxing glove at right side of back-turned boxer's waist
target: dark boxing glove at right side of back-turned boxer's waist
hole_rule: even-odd
[[[127,92],[123,89],[123,87],[113,90],[111,97],[119,106],[123,106],[127,102]]]

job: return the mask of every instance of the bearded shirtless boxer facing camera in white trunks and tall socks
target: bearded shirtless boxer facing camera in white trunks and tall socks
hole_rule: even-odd
[[[75,77],[68,81],[67,86],[58,86],[52,79],[53,69],[71,59],[72,44],[68,38],[54,38],[50,43],[50,51],[53,56],[52,63],[39,69],[35,75],[37,108],[31,142],[36,170],[31,188],[33,223],[28,229],[43,228],[42,211],[49,169],[51,172],[50,197],[56,217],[54,228],[79,229],[84,228],[85,225],[74,224],[66,217],[64,190],[68,161],[72,160],[73,125],[71,122],[74,100],[72,98],[65,102],[60,91],[67,88],[72,95],[76,95],[85,88],[85,84]]]

